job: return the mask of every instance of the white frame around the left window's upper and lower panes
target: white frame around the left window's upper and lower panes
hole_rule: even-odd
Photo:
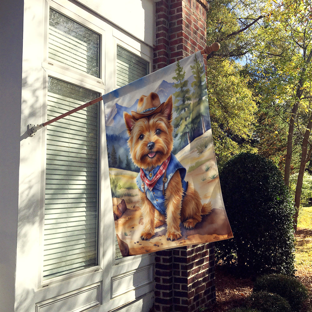
[[[83,88],[86,89],[90,89],[92,91],[95,91],[97,93],[99,93],[100,95],[103,95],[105,93],[105,83],[104,80],[102,79],[102,77],[104,76],[105,73],[105,61],[103,57],[101,57],[101,55],[103,55],[102,53],[100,53],[100,59],[99,59],[99,64],[100,64],[100,77],[94,77],[91,75],[88,75],[86,73],[80,72],[78,70],[74,70],[72,68],[70,68],[70,66],[65,66],[64,64],[54,61],[54,60],[49,60],[48,58],[48,38],[47,38],[47,34],[48,34],[48,22],[49,22],[49,10],[50,7],[58,12],[60,12],[61,14],[71,18],[72,20],[84,25],[85,27],[88,27],[89,29],[91,29],[92,31],[98,33],[100,35],[100,51],[105,51],[105,30],[101,29],[100,27],[95,26],[94,24],[92,24],[90,22],[90,20],[92,21],[92,18],[94,18],[90,13],[85,12],[84,10],[81,10],[82,12],[81,15],[85,15],[85,18],[87,17],[88,19],[84,19],[81,16],[78,16],[77,14],[73,13],[70,10],[66,10],[63,6],[61,6],[60,4],[53,2],[53,1],[46,1],[45,3],[45,39],[44,39],[44,60],[42,62],[42,67],[45,70],[46,75],[43,77],[43,89],[44,89],[44,94],[43,94],[43,120],[46,120],[46,116],[47,116],[47,83],[48,83],[48,76],[56,78],[56,79],[60,79],[60,80],[64,80],[68,83],[74,84],[74,85],[78,85],[81,86]],[[87,16],[89,15],[89,16]],[[100,104],[100,110],[99,110],[99,127],[101,129],[101,115],[103,114],[103,109],[101,107]],[[48,127],[48,126],[47,126]],[[48,280],[43,280],[43,274],[42,274],[42,263],[43,263],[43,228],[44,228],[44,198],[45,198],[45,180],[46,180],[46,127],[42,129],[43,130],[43,135],[42,135],[42,159],[44,160],[44,162],[42,163],[42,167],[41,167],[41,179],[43,181],[43,183],[41,183],[41,209],[40,209],[40,233],[41,233],[41,244],[40,244],[40,251],[41,251],[41,257],[40,257],[40,267],[39,267],[39,274],[38,274],[38,289],[43,289],[48,287],[49,285],[58,285],[61,284],[62,282],[66,282],[69,281],[71,279],[74,279],[76,277],[81,277],[81,276],[88,276],[94,272],[102,272],[102,265],[101,264],[101,259],[100,259],[100,250],[99,247],[101,246],[100,243],[98,242],[98,265],[87,268],[87,269],[82,269],[79,270],[77,272],[72,272],[72,273],[68,273],[65,275],[61,275],[58,277],[52,277],[51,279]],[[99,133],[100,137],[99,137],[99,142],[102,141],[102,133],[100,131]],[[100,149],[100,148],[99,148]],[[101,163],[103,163],[102,158],[103,158],[103,153],[101,151],[101,149],[99,150],[99,170],[100,170],[100,175],[102,176],[102,172],[104,171],[103,166],[101,166]],[[99,219],[100,219],[100,215],[102,213],[103,207],[101,207],[101,199],[100,199],[100,195],[101,195],[101,184],[103,184],[103,182],[101,181],[101,179],[98,181],[99,183],[99,202],[98,202],[98,214],[99,214]],[[100,223],[100,221],[99,221]],[[98,233],[99,235],[99,233]],[[100,235],[99,235],[100,238]],[[98,274],[99,275],[99,274]]]

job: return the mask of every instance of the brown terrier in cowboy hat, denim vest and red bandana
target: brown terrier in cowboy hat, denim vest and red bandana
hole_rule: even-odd
[[[124,112],[131,158],[140,168],[136,182],[144,219],[142,240],[151,238],[155,227],[164,223],[167,240],[178,240],[180,222],[193,229],[212,208],[210,203],[202,205],[198,192],[184,180],[186,169],[172,153],[172,108],[172,95],[160,103],[152,92],[140,97],[137,111]]]

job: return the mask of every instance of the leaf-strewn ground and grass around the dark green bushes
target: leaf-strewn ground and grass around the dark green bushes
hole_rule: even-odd
[[[312,242],[312,230],[298,228],[295,233],[295,239],[297,245]],[[302,311],[312,312],[312,267],[310,265],[298,265],[296,269],[295,276],[307,287],[310,295]],[[209,307],[206,312],[226,312],[231,308],[241,306],[246,297],[252,292],[252,278],[242,279],[234,277],[228,274],[228,272],[219,265],[215,267],[215,270],[217,301],[216,304]]]

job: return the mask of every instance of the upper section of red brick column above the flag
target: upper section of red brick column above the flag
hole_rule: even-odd
[[[206,45],[206,0],[160,0],[156,5],[154,71]]]

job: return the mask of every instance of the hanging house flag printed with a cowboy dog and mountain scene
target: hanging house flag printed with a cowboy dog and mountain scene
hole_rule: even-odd
[[[103,95],[122,256],[232,238],[197,53]]]

